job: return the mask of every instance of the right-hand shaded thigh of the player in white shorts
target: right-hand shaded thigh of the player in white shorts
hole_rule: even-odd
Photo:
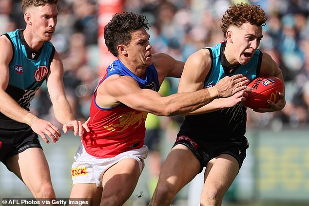
[[[124,158],[107,169],[102,179],[102,201],[112,196],[125,200],[131,196],[141,174],[140,164],[143,164],[143,161],[140,161]]]

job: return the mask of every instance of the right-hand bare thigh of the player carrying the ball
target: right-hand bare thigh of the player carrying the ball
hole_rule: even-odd
[[[224,194],[232,185],[239,171],[238,161],[229,154],[221,154],[212,159],[205,170],[205,184],[202,191]]]

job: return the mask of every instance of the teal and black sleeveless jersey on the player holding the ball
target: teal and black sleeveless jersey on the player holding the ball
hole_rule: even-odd
[[[210,88],[226,75],[242,74],[251,81],[259,76],[262,52],[256,50],[246,65],[238,65],[232,74],[223,68],[224,49],[226,41],[209,47],[212,57],[212,67],[205,78],[204,88]],[[231,108],[198,115],[189,115],[180,127],[178,135],[188,135],[201,141],[228,142],[247,141],[246,132],[247,108],[239,103]]]

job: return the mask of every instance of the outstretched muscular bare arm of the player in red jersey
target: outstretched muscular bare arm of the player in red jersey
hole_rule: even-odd
[[[239,82],[240,76],[234,78],[234,81],[228,80],[225,83]],[[239,83],[232,84],[235,90],[242,90],[242,87],[245,87]],[[219,97],[216,95],[215,98]],[[163,97],[155,91],[140,89],[135,79],[130,76],[112,75],[98,87],[96,101],[102,108],[111,108],[123,103],[138,111],[172,116],[193,111],[211,102],[213,98],[208,89]]]

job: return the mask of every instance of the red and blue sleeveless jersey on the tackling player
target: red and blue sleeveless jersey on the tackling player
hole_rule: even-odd
[[[158,75],[154,65],[146,68],[145,80],[134,75],[119,59],[106,71],[97,88],[111,75],[127,75],[133,77],[141,89],[159,91]],[[95,157],[108,158],[141,148],[144,145],[147,112],[136,111],[124,104],[113,108],[100,108],[96,103],[96,96],[97,89],[90,106],[88,127],[91,132],[85,132],[82,136],[82,144],[87,153]]]

